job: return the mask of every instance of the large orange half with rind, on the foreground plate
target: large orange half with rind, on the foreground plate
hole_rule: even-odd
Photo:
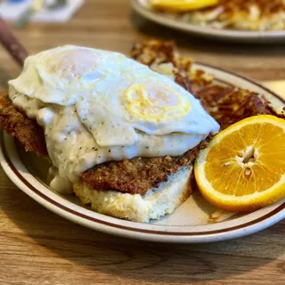
[[[199,190],[228,211],[250,211],[285,197],[285,120],[246,118],[217,134],[195,163]]]

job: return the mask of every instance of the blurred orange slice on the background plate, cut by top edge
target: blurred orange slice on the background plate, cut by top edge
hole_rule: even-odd
[[[218,4],[218,0],[150,0],[153,8],[172,12],[187,12]]]

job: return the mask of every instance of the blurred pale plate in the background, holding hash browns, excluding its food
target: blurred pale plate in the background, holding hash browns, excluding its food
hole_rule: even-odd
[[[191,23],[184,22],[183,20],[176,19],[166,13],[152,10],[149,0],[132,0],[132,4],[135,12],[138,12],[149,20],[155,21],[169,28],[176,28],[197,36],[211,37],[219,40],[240,43],[285,42],[285,30],[247,31],[201,27],[199,25],[193,25]]]

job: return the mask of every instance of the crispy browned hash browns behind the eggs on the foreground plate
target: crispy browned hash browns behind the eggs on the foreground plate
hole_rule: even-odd
[[[155,70],[159,69],[159,65],[170,63],[170,71],[168,70],[167,74],[172,73],[177,84],[200,100],[205,110],[220,124],[221,129],[256,115],[270,114],[285,118],[283,114],[276,113],[261,94],[235,86],[217,85],[212,75],[195,69],[189,58],[180,57],[174,42],[151,40],[136,44],[131,55],[136,61]]]

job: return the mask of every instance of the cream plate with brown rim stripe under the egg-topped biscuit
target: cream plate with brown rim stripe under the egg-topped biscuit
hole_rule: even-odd
[[[213,74],[216,80],[223,84],[236,85],[265,94],[277,108],[281,109],[284,106],[285,102],[278,95],[262,85],[222,69],[203,64],[196,66]],[[151,224],[128,222],[97,214],[83,207],[77,198],[53,192],[45,184],[49,167],[45,159],[24,151],[20,143],[15,142],[8,134],[2,134],[1,137],[0,162],[12,182],[45,208],[77,224],[131,239],[188,243],[229,240],[261,231],[285,217],[283,199],[256,212],[232,216],[227,221],[210,224],[208,215],[214,213],[216,208],[208,204],[196,191],[170,216]]]

